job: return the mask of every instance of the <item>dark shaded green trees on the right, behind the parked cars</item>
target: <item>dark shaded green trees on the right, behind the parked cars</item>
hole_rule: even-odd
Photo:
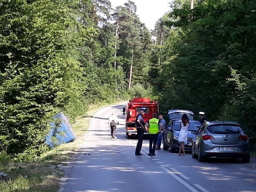
[[[161,109],[203,110],[209,120],[235,120],[255,144],[256,2],[205,0],[194,10],[188,1],[173,6],[155,80]]]

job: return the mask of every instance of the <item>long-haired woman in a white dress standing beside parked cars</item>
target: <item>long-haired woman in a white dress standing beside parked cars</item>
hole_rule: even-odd
[[[180,151],[178,156],[181,156],[180,154],[181,150],[183,151],[182,156],[185,156],[185,142],[187,143],[187,139],[188,139],[188,127],[189,127],[189,118],[186,114],[183,114],[180,122],[179,141],[181,142],[181,144],[180,144]]]

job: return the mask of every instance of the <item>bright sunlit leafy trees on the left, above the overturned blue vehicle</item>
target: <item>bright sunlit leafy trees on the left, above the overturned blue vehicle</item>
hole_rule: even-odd
[[[32,160],[46,150],[48,119],[73,104],[84,106],[77,102],[84,84],[74,50],[93,31],[77,21],[75,0],[1,5],[0,149]]]

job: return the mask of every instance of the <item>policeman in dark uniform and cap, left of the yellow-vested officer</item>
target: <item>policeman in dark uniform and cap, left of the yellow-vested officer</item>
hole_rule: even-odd
[[[144,129],[145,129],[145,123],[143,120],[143,115],[145,114],[145,111],[143,109],[140,109],[140,113],[136,116],[135,120],[135,126],[137,128],[137,136],[138,136],[138,142],[135,150],[135,155],[143,155],[140,153],[141,147],[142,147],[142,141],[143,141],[143,135],[144,135]]]

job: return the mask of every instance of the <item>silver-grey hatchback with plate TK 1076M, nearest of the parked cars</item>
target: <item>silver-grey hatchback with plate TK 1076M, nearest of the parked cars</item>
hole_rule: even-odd
[[[204,162],[209,157],[242,158],[250,162],[249,139],[236,122],[205,122],[198,131],[192,131],[192,157]]]

